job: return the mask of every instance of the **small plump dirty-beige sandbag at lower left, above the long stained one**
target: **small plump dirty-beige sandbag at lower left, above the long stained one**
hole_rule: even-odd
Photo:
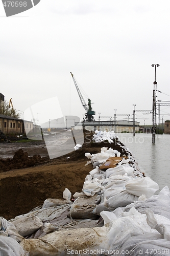
[[[15,225],[18,233],[23,237],[29,236],[43,225],[42,221],[34,215],[16,219],[12,221],[12,224]]]

